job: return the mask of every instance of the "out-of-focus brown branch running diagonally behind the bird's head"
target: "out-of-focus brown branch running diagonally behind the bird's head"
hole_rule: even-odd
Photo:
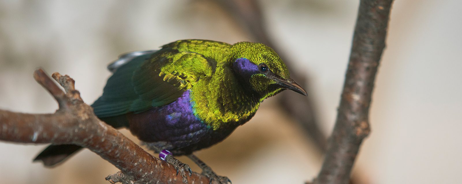
[[[322,133],[319,122],[316,120],[316,108],[311,100],[313,98],[307,74],[301,74],[295,69],[292,62],[282,49],[268,36],[265,20],[261,13],[261,7],[256,0],[217,0],[234,20],[239,23],[239,27],[244,29],[255,42],[264,43],[273,48],[284,60],[291,71],[291,77],[295,81],[303,84],[308,95],[298,97],[290,93],[283,92],[276,96],[281,106],[281,110],[296,120],[298,125],[306,132],[305,136],[312,139],[317,148],[323,152],[326,150],[326,136]]]

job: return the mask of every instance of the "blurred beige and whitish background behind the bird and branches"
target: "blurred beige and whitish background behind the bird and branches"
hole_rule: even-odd
[[[319,119],[330,132],[358,1],[260,4],[276,44],[310,76]],[[364,182],[460,182],[461,6],[460,0],[395,1],[374,90],[372,132],[355,165]],[[106,65],[120,53],[192,38],[250,40],[208,0],[0,0],[0,108],[54,112],[55,101],[32,78],[38,67],[73,77],[91,104],[110,75]],[[301,184],[316,176],[322,155],[291,121],[270,98],[249,123],[198,156],[235,184]],[[108,184],[104,177],[117,172],[88,150],[52,169],[32,163],[44,147],[0,142],[0,183]]]

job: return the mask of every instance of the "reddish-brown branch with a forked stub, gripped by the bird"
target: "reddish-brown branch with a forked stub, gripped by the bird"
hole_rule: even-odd
[[[34,78],[56,99],[54,114],[24,114],[0,109],[0,140],[16,143],[76,144],[97,153],[121,170],[108,176],[111,183],[182,184],[176,169],[140,148],[115,128],[100,121],[93,109],[80,98],[69,76],[54,73],[64,93],[42,69]],[[208,184],[206,176],[193,173],[189,182]]]

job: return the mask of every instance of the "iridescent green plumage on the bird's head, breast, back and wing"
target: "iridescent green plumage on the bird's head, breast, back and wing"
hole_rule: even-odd
[[[276,81],[261,74],[252,76],[251,86],[243,86],[232,71],[236,58],[266,63],[274,74],[290,79],[280,57],[263,44],[240,42],[231,46],[210,40],[179,40],[162,46],[149,61],[142,63],[146,58],[139,58],[140,63],[129,63],[139,65],[131,77],[126,73],[129,69],[117,70],[114,75],[121,77],[109,79],[93,108],[98,117],[137,113],[169,104],[191,89],[195,115],[216,130],[223,123],[250,117],[263,99],[283,90],[268,89]]]

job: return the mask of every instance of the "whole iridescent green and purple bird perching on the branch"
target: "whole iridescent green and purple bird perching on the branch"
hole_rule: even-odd
[[[286,89],[306,95],[276,52],[261,43],[178,40],[159,51],[127,53],[108,68],[114,74],[91,105],[95,114],[129,128],[181,171],[183,181],[191,170],[172,155],[188,155],[211,181],[227,183],[192,153],[228,137],[264,99]],[[50,145],[34,161],[53,166],[81,148]]]

